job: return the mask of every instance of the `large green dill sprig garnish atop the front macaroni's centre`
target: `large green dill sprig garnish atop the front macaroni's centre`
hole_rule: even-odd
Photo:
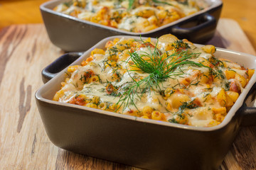
[[[184,74],[183,67],[184,65],[189,65],[193,67],[206,67],[205,65],[193,62],[190,59],[198,57],[200,53],[191,53],[188,51],[181,51],[176,52],[173,55],[169,55],[164,57],[163,54],[157,49],[157,42],[156,45],[152,45],[149,42],[144,42],[142,40],[144,47],[148,48],[149,52],[137,52],[134,51],[130,53],[130,57],[127,61],[132,60],[134,63],[134,70],[128,70],[127,73],[129,77],[132,78],[132,83],[129,86],[126,86],[126,89],[120,88],[119,89],[119,101],[117,102],[117,110],[123,107],[123,110],[129,106],[129,104],[133,105],[135,108],[136,101],[140,100],[143,94],[146,91],[151,91],[154,89],[162,91],[160,84],[166,79],[176,79],[176,76]],[[152,49],[153,48],[153,49]],[[129,62],[127,62],[128,64]],[[135,67],[139,68],[140,70],[136,69]],[[210,67],[208,67],[210,69]],[[147,77],[142,79],[134,79],[131,72],[144,72],[149,74]],[[120,92],[122,91],[122,92]],[[136,98],[137,97],[137,98]],[[137,108],[139,111],[139,109]]]

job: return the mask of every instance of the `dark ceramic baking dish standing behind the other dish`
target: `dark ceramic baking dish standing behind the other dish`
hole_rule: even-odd
[[[42,4],[40,9],[50,41],[67,52],[88,50],[103,38],[114,35],[157,38],[172,33],[179,39],[186,38],[191,42],[203,43],[213,37],[223,6],[220,0],[206,0],[209,7],[191,16],[146,33],[132,33],[53,11],[55,6],[64,1],[67,0],[48,1]]]

